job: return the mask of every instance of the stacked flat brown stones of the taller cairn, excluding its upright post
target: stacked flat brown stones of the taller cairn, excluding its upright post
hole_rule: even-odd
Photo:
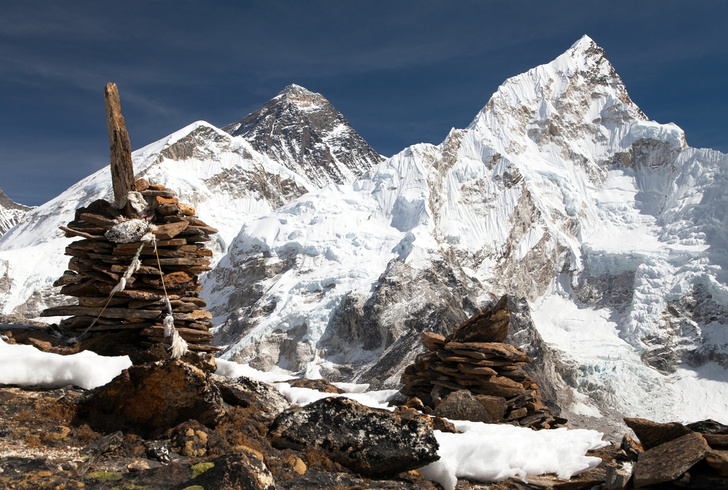
[[[212,315],[203,308],[198,275],[210,270],[212,251],[204,242],[217,233],[195,216],[195,209],[179,202],[174,192],[162,185],[136,181],[136,207],[131,203],[117,209],[98,200],[76,211],[75,219],[63,226],[67,237],[81,237],[66,247],[68,269],[54,285],[61,293],[78,298],[77,305],[48,308],[43,316],[68,316],[60,330],[69,337],[84,332],[135,332],[139,345],[169,344],[163,325],[167,315],[165,294],[172,307],[174,327],[192,351],[216,351]],[[141,198],[141,208],[140,201]],[[136,219],[148,223],[156,242],[143,239],[123,243],[107,232],[122,222]],[[107,238],[111,236],[112,239]],[[144,240],[144,241],[143,241]],[[140,247],[141,267],[126,281],[126,287],[112,295]],[[161,265],[161,269],[160,269]],[[111,300],[109,301],[109,298]],[[108,303],[108,304],[107,304]],[[106,306],[106,308],[104,308]]]

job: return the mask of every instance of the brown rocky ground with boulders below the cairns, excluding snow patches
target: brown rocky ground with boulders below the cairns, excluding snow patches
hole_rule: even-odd
[[[5,333],[68,351],[42,329]],[[132,366],[90,391],[0,387],[0,487],[441,488],[417,468],[438,458],[433,430],[454,429],[404,396],[393,412],[333,396],[292,407],[269,385],[214,369],[212,357],[188,354]],[[294,384],[339,391],[324,380]],[[571,480],[457,488],[728,487],[728,427],[625,421],[639,442],[627,435],[592,453],[602,463]]]

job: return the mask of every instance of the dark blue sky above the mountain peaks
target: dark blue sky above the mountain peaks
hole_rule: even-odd
[[[108,81],[134,149],[297,83],[391,155],[467,126],[583,34],[648,117],[728,152],[728,2],[5,0],[0,189],[42,204],[108,164]]]

